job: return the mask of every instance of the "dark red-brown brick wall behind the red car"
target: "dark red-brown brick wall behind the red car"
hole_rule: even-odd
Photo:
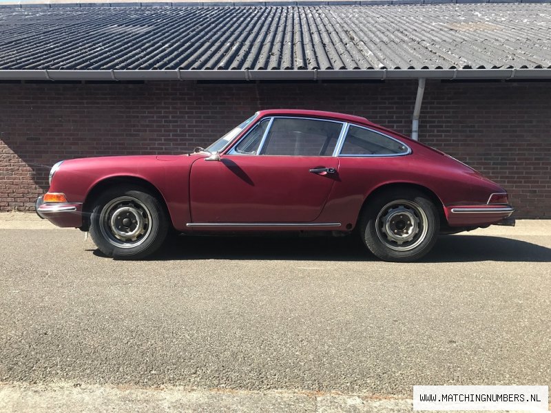
[[[258,109],[331,110],[410,133],[415,81],[346,84],[0,83],[0,211],[30,210],[57,160],[183,153]],[[427,83],[420,140],[551,217],[551,83]]]

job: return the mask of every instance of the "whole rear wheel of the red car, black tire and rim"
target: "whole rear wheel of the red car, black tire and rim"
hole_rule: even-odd
[[[413,262],[434,246],[440,229],[435,204],[415,189],[381,193],[364,210],[360,233],[381,260]]]

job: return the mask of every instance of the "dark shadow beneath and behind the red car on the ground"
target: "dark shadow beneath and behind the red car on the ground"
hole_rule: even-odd
[[[96,255],[102,255],[98,250]],[[148,260],[378,261],[359,237],[170,237]],[[551,262],[551,248],[481,235],[444,235],[420,262]]]

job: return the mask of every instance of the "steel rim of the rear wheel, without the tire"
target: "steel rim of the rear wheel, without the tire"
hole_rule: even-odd
[[[375,227],[385,246],[394,251],[410,251],[425,240],[428,218],[417,202],[394,200],[382,207]]]

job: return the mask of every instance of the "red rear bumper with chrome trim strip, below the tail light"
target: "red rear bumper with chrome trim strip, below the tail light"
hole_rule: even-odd
[[[506,220],[514,212],[510,205],[454,205],[444,207],[450,226],[485,226]],[[514,220],[513,220],[514,222]]]

